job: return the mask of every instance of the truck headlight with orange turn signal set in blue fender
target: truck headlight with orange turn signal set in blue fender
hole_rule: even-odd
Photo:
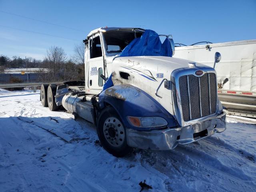
[[[162,117],[132,117],[128,116],[130,124],[134,127],[162,127],[167,121]]]

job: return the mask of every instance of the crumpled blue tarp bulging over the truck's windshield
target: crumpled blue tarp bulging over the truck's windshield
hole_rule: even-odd
[[[156,32],[145,30],[140,38],[135,38],[120,54],[120,57],[129,56],[172,57],[172,47],[168,38],[162,44]]]

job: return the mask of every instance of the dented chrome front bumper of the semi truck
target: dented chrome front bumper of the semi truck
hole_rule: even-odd
[[[131,147],[170,150],[178,144],[192,143],[224,130],[226,130],[226,113],[222,112],[214,118],[184,127],[152,131],[126,129],[126,136],[127,144]]]

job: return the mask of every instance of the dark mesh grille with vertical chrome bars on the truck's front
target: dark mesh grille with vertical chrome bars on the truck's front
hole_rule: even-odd
[[[201,77],[184,75],[179,78],[183,120],[190,121],[216,113],[217,84],[215,73]]]

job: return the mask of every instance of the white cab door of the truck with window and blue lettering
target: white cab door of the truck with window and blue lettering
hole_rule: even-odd
[[[103,50],[100,34],[92,36],[89,40],[90,58],[88,87],[90,93],[98,94],[103,88],[103,79],[100,77],[104,71]]]

